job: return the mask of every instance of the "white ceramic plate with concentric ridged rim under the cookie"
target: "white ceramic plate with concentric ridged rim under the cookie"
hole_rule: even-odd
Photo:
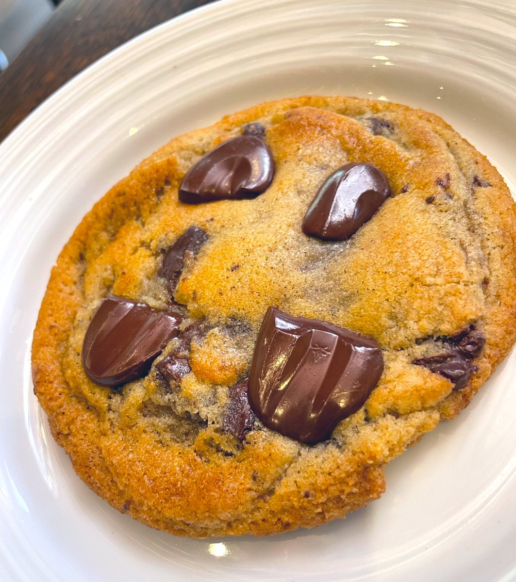
[[[52,264],[91,205],[172,136],[304,93],[443,116],[515,190],[511,0],[224,0],[97,62],[0,146],[0,579],[516,580],[513,352],[457,420],[387,467],[347,520],[274,538],[150,530],[73,473],[32,393]]]

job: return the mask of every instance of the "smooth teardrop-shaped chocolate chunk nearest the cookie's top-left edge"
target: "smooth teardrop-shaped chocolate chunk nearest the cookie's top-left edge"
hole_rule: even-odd
[[[274,178],[273,154],[256,136],[238,136],[211,150],[186,173],[179,200],[200,204],[225,198],[255,198]]]

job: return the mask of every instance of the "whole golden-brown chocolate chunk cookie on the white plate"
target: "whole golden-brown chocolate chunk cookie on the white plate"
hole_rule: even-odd
[[[503,179],[431,113],[257,105],[176,137],[84,217],[34,391],[83,481],[151,527],[344,517],[513,345],[515,225]]]

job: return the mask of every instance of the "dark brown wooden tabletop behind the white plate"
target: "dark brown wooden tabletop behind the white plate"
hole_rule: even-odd
[[[137,34],[214,0],[63,0],[0,74],[0,141],[48,95]]]

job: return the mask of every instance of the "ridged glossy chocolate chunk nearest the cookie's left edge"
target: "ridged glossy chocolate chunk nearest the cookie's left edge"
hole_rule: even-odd
[[[178,335],[181,320],[179,313],[108,295],[84,336],[82,364],[87,377],[101,386],[141,377]]]

